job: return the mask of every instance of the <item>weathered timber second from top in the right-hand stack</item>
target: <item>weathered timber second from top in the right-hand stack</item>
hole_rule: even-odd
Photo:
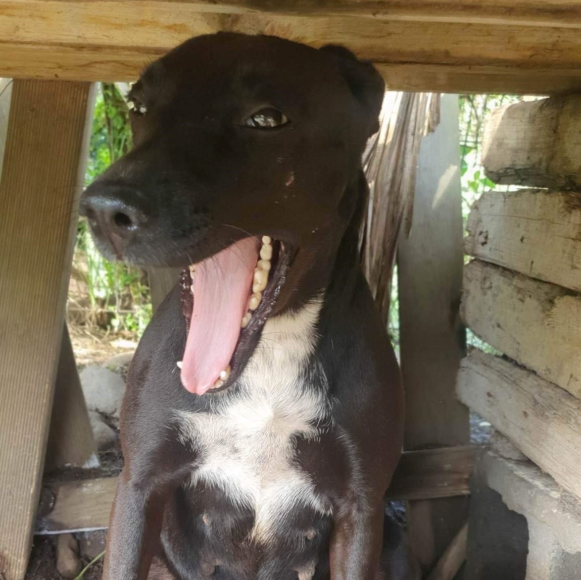
[[[485,193],[467,230],[467,254],[581,291],[581,193]]]

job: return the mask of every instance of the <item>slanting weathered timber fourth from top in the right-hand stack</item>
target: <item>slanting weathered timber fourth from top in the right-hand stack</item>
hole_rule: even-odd
[[[457,391],[465,405],[581,498],[579,399],[512,362],[478,350],[462,361]]]

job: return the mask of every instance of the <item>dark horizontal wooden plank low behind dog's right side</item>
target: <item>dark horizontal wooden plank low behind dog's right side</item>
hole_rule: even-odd
[[[469,495],[475,448],[457,445],[407,451],[401,456],[388,499],[436,499]]]

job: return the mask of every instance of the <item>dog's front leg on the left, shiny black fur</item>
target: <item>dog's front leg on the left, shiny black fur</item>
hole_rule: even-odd
[[[159,545],[165,497],[123,470],[109,524],[103,580],[146,580]]]

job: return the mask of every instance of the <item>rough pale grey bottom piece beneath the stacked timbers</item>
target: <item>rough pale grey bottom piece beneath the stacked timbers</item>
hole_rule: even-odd
[[[531,537],[527,580],[578,578],[578,574],[571,573],[553,575],[560,571],[559,568],[562,572],[569,567],[567,564],[571,565],[567,554],[576,556],[577,565],[580,564],[581,509],[578,500],[530,462],[514,462],[489,452],[483,456],[478,469],[506,505],[528,520]]]

